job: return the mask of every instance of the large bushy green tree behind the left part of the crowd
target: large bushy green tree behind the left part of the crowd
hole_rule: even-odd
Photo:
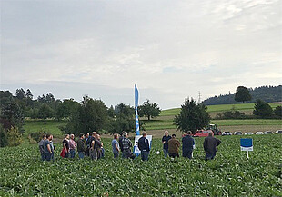
[[[84,97],[70,120],[60,129],[65,133],[103,132],[108,123],[106,105],[101,100]]]

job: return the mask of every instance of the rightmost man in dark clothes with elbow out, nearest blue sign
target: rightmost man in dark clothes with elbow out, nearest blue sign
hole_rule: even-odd
[[[220,140],[213,137],[212,133],[208,133],[208,136],[204,141],[204,150],[206,152],[206,160],[213,160],[217,153],[217,146],[221,143]]]

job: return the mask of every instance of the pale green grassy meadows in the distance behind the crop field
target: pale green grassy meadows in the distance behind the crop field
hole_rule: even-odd
[[[273,108],[281,103],[269,103]],[[252,112],[254,103],[244,104],[223,104],[208,106],[208,112],[211,115],[215,115],[220,112],[230,110],[232,108],[241,112]],[[176,126],[173,125],[173,119],[180,109],[170,109],[162,111],[159,117],[151,121],[147,121],[145,118],[141,118],[141,122],[145,123],[146,131],[152,133],[154,136],[160,137],[164,130],[170,132],[176,132]],[[62,137],[63,134],[59,130],[58,126],[65,125],[66,122],[47,121],[44,124],[43,121],[25,121],[25,136],[32,132],[38,132],[45,130],[48,133],[53,133],[55,137]],[[216,123],[222,131],[242,131],[242,132],[256,132],[256,131],[276,131],[282,129],[281,120],[265,120],[265,119],[248,119],[248,120],[212,120],[211,123]]]

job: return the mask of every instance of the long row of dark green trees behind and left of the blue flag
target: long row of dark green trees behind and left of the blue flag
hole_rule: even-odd
[[[63,133],[131,133],[135,131],[135,110],[132,106],[119,103],[116,106],[106,107],[106,104],[98,99],[88,96],[83,97],[82,102],[74,99],[55,99],[52,93],[43,94],[34,99],[30,89],[17,89],[15,95],[9,91],[0,91],[0,129],[2,139],[7,139],[7,133],[11,128],[18,130],[18,134],[24,132],[25,119],[57,121],[64,120],[65,126],[60,127]],[[138,107],[140,117],[148,120],[158,116],[161,110],[156,103],[146,100]],[[145,124],[140,121],[142,130]],[[1,136],[2,136],[1,135]],[[5,143],[6,144],[6,143]]]

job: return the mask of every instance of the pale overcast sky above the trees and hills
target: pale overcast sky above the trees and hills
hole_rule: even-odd
[[[1,90],[162,109],[282,84],[282,1],[1,0]]]

